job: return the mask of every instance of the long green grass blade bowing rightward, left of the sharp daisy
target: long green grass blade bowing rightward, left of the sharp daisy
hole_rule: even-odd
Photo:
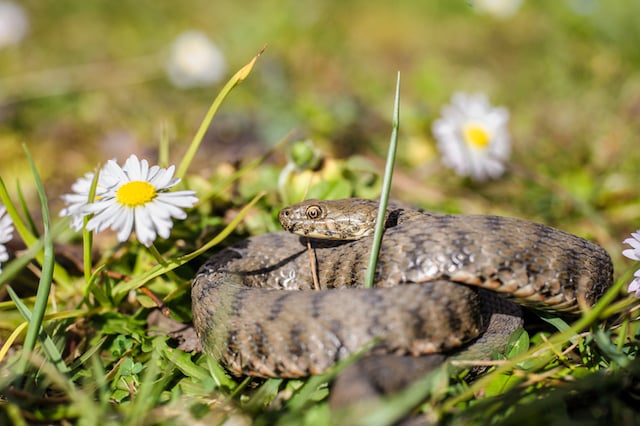
[[[24,146],[24,150],[27,154],[27,159],[31,166],[31,171],[38,191],[38,197],[40,199],[40,206],[42,207],[42,226],[43,226],[43,241],[44,241],[44,256],[42,263],[42,271],[40,275],[40,281],[38,283],[38,291],[36,293],[36,302],[33,306],[33,314],[27,327],[27,335],[24,339],[23,350],[25,354],[30,354],[36,345],[36,340],[40,334],[40,328],[42,327],[42,321],[44,319],[44,313],[47,309],[47,301],[49,300],[49,293],[51,291],[51,282],[53,280],[53,265],[54,265],[54,253],[53,253],[53,236],[51,235],[50,223],[49,223],[49,208],[47,205],[47,197],[44,193],[44,187],[40,180],[40,175],[36,170],[33,158],[29,153],[29,150]],[[24,375],[27,369],[28,357],[20,358],[18,362],[18,374]]]

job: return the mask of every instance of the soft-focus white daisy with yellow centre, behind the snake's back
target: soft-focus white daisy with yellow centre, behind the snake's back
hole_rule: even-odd
[[[478,181],[501,176],[511,154],[508,121],[506,108],[493,108],[486,95],[455,93],[432,127],[442,162]]]

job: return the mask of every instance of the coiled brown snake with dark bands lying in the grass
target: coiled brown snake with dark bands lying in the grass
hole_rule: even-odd
[[[235,375],[280,378],[324,373],[367,345],[387,358],[486,357],[522,325],[520,306],[576,315],[612,285],[606,250],[571,233],[390,203],[365,288],[378,206],[306,200],[279,212],[283,231],[209,258],[191,287],[203,350]]]

